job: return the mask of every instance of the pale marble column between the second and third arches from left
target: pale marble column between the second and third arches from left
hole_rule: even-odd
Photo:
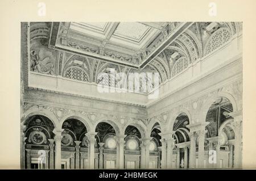
[[[95,168],[95,162],[94,162],[94,145],[96,141],[96,132],[88,132],[86,133],[86,137],[88,138],[86,141],[88,142],[88,153],[89,153],[89,168],[94,169]]]

